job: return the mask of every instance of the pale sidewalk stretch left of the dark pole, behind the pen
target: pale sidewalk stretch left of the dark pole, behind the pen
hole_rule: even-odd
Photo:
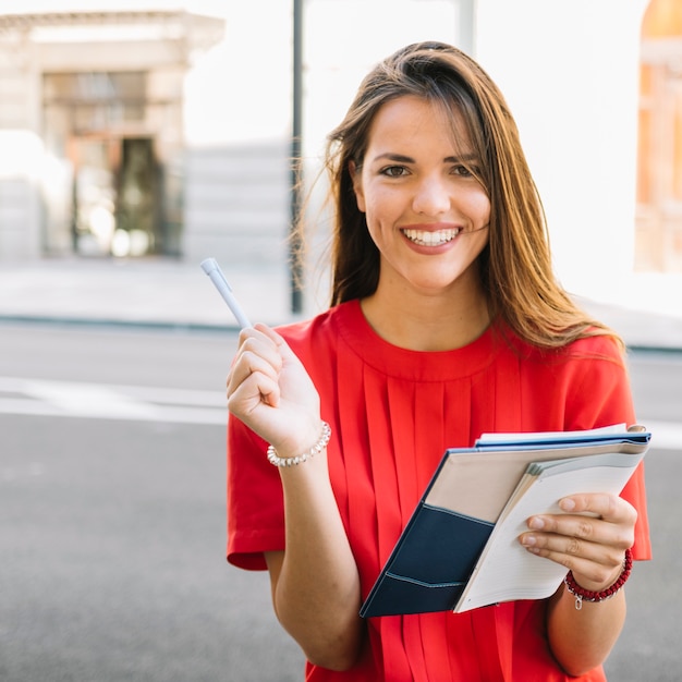
[[[289,313],[285,266],[230,267],[226,276],[252,321]],[[0,264],[0,320],[233,328],[200,265],[172,259],[42,259]]]

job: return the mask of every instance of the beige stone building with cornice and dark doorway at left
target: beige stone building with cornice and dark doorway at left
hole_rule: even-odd
[[[184,78],[223,23],[0,15],[0,259],[181,253]]]

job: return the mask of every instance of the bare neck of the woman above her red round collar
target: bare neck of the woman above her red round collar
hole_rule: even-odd
[[[367,322],[389,343],[412,351],[450,351],[475,341],[489,326],[483,290],[453,287],[429,294],[377,291],[361,301]]]

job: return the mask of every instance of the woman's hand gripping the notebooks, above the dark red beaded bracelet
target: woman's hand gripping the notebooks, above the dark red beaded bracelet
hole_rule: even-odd
[[[606,589],[618,580],[633,545],[636,510],[617,495],[598,492],[572,495],[559,507],[561,514],[531,516],[521,544],[572,571],[584,589]]]

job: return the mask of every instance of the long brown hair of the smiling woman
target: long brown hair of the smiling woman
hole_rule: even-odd
[[[336,209],[331,304],[376,291],[379,252],[357,208],[349,166],[362,166],[379,108],[407,95],[436,103],[453,122],[458,112],[467,127],[480,165],[477,176],[491,206],[489,242],[479,265],[492,318],[543,348],[612,334],[581,310],[555,279],[543,205],[500,90],[474,60],[441,42],[411,45],[379,63],[328,137],[326,168]]]

